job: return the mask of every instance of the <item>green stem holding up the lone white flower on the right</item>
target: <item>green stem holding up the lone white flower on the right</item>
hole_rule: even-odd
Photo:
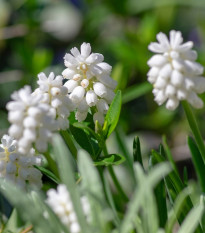
[[[194,116],[194,114],[192,112],[192,109],[191,109],[190,105],[186,101],[182,102],[182,106],[183,106],[184,111],[186,113],[186,117],[187,117],[187,120],[189,122],[189,126],[190,126],[190,128],[192,130],[192,133],[194,135],[195,141],[197,143],[197,146],[199,148],[199,151],[201,153],[203,161],[205,162],[204,141],[203,141],[203,138],[202,138],[201,133],[199,131],[199,127],[197,125],[196,118],[195,118],[195,116]]]

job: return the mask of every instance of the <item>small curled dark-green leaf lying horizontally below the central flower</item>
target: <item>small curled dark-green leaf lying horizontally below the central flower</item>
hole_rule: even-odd
[[[110,166],[119,165],[125,161],[125,157],[120,154],[109,154],[104,157],[100,157],[94,162],[96,166]]]

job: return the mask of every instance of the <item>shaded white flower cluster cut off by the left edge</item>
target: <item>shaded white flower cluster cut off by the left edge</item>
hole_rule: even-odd
[[[41,165],[41,157],[31,149],[27,155],[18,152],[17,141],[4,135],[0,144],[0,177],[8,179],[21,188],[27,183],[41,188],[42,174],[34,165]]]

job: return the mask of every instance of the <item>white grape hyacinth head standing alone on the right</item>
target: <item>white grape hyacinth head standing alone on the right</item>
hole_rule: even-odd
[[[151,43],[149,50],[157,53],[149,61],[151,69],[148,81],[154,85],[155,101],[174,110],[180,100],[187,100],[193,107],[202,108],[203,101],[197,93],[205,91],[203,67],[195,62],[196,51],[193,42],[183,43],[181,32],[170,31],[170,40],[164,33],[157,34],[159,43]]]

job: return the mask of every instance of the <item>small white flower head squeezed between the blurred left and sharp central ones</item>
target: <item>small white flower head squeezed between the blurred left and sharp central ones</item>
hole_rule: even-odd
[[[63,86],[63,77],[60,75],[55,77],[54,73],[51,72],[48,78],[44,73],[40,73],[38,78],[39,88],[34,93],[43,95],[41,102],[50,106],[58,129],[69,128],[68,117],[70,112],[74,110],[74,105],[68,96],[67,87]]]

